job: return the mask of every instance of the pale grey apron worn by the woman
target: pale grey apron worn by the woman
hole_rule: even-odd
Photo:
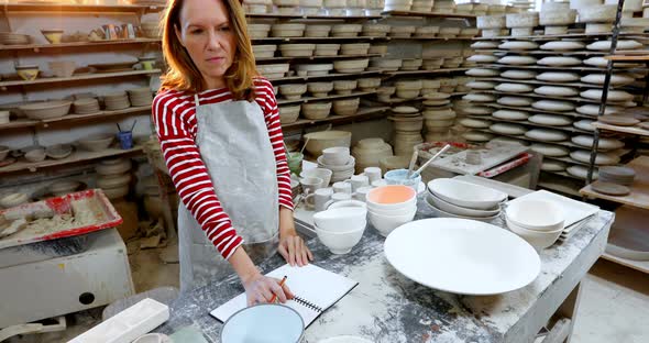
[[[264,113],[249,101],[200,106],[196,145],[232,228],[255,264],[274,255],[279,242],[275,154]],[[234,272],[187,208],[178,207],[180,291]]]

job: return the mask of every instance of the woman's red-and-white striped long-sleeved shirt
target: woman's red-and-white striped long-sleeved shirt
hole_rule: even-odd
[[[254,82],[255,101],[262,108],[277,166],[279,204],[293,210],[290,172],[273,86],[265,78]],[[232,101],[228,89],[198,93],[200,104]],[[196,104],[193,92],[166,90],[153,100],[153,122],[172,180],[185,207],[224,258],[230,258],[243,239],[223,211],[208,170],[196,146]],[[218,177],[218,176],[216,176]]]

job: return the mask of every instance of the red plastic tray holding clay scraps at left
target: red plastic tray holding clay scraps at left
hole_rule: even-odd
[[[28,226],[22,231],[19,231],[10,236],[1,239],[0,248],[81,235],[99,230],[116,228],[123,222],[123,219],[112,207],[112,204],[110,203],[110,201],[108,200],[108,198],[101,189],[88,189],[79,192],[65,195],[62,197],[55,197],[42,201],[24,203],[21,206],[16,206],[14,208],[0,210],[0,215],[11,214],[14,212],[33,213],[36,211],[41,211],[44,208],[50,208],[55,213],[62,214],[72,212],[72,202],[74,200],[84,199],[95,201],[95,203],[97,204],[96,209],[100,210],[99,213],[96,213],[96,222],[87,225],[79,225],[73,228],[54,228],[52,230],[47,230],[46,232],[36,232],[35,230],[31,230],[31,228]]]

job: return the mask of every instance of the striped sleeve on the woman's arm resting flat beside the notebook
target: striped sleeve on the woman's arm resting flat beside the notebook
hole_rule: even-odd
[[[255,80],[255,97],[260,107],[264,110],[264,119],[268,128],[271,144],[275,153],[275,164],[277,168],[277,186],[279,193],[279,206],[293,211],[293,192],[290,190],[290,170],[286,161],[286,150],[284,148],[284,134],[279,123],[279,109],[277,99],[273,91],[273,85],[265,78]]]

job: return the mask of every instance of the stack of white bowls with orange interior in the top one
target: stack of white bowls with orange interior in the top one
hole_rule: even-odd
[[[383,236],[413,221],[417,213],[417,191],[408,186],[388,185],[366,196],[370,222]]]

